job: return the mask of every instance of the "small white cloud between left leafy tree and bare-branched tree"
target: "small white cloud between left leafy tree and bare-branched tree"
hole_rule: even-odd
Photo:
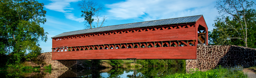
[[[49,9],[49,10],[53,10],[53,11],[58,11],[58,12],[62,12],[65,14],[65,17],[67,19],[71,19],[77,22],[83,22],[84,19],[83,18],[79,18],[74,16],[73,13],[69,13],[72,12],[71,10],[74,10],[74,8],[70,8],[70,3],[71,2],[78,2],[81,0],[50,0],[52,1],[52,3],[49,3],[47,5],[45,5],[45,8]]]

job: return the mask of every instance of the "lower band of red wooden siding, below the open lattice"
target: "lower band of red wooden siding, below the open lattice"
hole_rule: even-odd
[[[196,46],[101,49],[52,52],[52,60],[196,59]]]

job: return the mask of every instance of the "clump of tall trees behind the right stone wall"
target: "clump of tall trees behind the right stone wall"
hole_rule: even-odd
[[[254,2],[246,0],[217,1],[219,14],[214,29],[209,33],[209,41],[215,45],[239,45],[253,48],[255,42],[255,10],[249,9]],[[248,32],[250,31],[250,32]],[[252,34],[249,35],[248,34]],[[251,41],[248,41],[248,38]]]

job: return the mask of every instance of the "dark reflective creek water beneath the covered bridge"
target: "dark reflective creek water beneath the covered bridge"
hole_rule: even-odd
[[[185,67],[129,67],[71,70],[11,70],[0,71],[1,78],[155,78],[185,73]]]

